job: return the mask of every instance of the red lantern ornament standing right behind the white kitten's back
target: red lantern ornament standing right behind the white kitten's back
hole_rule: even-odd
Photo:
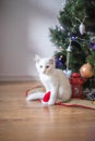
[[[71,78],[70,78],[70,84],[72,88],[72,98],[83,98],[83,92],[82,92],[82,86],[84,84],[84,79],[81,77],[79,73],[73,73]]]

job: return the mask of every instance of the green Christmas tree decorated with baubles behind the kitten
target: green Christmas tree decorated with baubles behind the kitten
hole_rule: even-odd
[[[80,73],[84,87],[95,88],[95,0],[66,0],[58,21],[49,30],[60,68]]]

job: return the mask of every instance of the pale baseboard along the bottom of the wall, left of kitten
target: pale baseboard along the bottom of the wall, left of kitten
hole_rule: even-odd
[[[38,76],[0,76],[0,81],[31,81],[31,80],[39,80]]]

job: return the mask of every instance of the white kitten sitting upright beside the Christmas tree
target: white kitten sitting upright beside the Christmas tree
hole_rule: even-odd
[[[46,88],[46,92],[50,91],[49,105],[54,105],[58,99],[67,102],[71,98],[71,86],[69,79],[61,69],[55,68],[55,59],[35,56],[36,68],[39,74],[40,81]],[[41,99],[44,93],[32,94],[27,100]]]

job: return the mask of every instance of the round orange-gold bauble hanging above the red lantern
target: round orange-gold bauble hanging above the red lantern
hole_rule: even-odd
[[[80,74],[84,78],[93,77],[94,72],[93,72],[92,65],[90,63],[82,65],[80,68]]]

